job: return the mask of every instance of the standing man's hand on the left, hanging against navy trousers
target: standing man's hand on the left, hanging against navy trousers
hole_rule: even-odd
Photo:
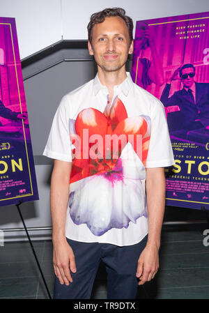
[[[54,273],[61,284],[69,285],[72,282],[70,270],[76,272],[75,256],[67,241],[54,243],[53,252]]]

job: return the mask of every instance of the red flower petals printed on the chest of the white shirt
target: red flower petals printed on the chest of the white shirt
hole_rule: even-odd
[[[75,133],[70,133],[72,145],[79,142],[79,153],[72,160],[70,183],[117,169],[116,164],[127,142],[132,144],[145,166],[149,140],[148,118],[127,117],[125,106],[118,97],[112,105],[105,107],[103,113],[91,107],[83,109],[75,120]]]

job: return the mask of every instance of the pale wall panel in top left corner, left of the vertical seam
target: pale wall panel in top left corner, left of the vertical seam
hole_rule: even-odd
[[[61,40],[61,0],[0,0],[1,17],[15,17],[20,58]]]

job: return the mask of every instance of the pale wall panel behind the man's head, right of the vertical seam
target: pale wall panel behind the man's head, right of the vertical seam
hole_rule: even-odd
[[[62,0],[63,37],[87,39],[91,14],[115,6],[124,8],[134,25],[137,20],[209,11],[208,0]]]

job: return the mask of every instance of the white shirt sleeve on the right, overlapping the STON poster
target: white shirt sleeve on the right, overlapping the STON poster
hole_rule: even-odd
[[[164,106],[158,99],[156,99],[150,118],[151,135],[146,167],[169,167],[174,165],[167,118]]]

